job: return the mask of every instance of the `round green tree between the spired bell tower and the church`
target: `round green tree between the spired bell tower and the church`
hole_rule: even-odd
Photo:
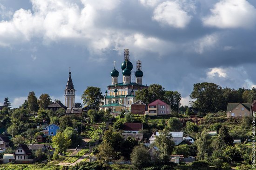
[[[103,99],[101,88],[92,86],[87,87],[82,94],[81,99],[83,100],[84,105],[98,110],[101,100]]]

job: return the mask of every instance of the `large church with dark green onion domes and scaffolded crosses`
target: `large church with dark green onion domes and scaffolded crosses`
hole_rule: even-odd
[[[119,72],[115,69],[110,73],[112,83],[108,85],[105,92],[103,105],[100,110],[110,109],[112,112],[120,112],[122,110],[130,111],[131,105],[135,103],[135,92],[148,88],[147,85],[142,85],[143,72],[141,71],[141,61],[136,63],[135,82],[132,82],[133,64],[129,59],[129,50],[124,50],[124,61],[121,64],[122,82],[118,83]]]

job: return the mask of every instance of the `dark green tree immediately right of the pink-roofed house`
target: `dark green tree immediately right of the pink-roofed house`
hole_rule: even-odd
[[[164,102],[171,104],[171,109],[175,111],[179,111],[181,99],[181,94],[177,91],[165,91],[164,93]]]

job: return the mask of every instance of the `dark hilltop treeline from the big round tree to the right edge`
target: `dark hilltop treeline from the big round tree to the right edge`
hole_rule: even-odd
[[[256,99],[256,88],[222,88],[214,83],[196,83],[190,94],[192,107],[203,113],[226,111],[228,103],[252,103]]]

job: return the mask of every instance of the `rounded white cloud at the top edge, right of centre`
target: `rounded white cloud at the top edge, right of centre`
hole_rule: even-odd
[[[188,6],[182,7],[179,1],[165,1],[155,8],[153,20],[176,28],[186,27],[192,16],[187,13]]]

